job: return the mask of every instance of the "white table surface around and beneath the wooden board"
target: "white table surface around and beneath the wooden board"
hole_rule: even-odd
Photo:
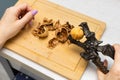
[[[120,30],[120,1],[119,0],[49,0],[51,2],[57,3],[74,11],[83,13],[95,19],[101,20],[106,23],[106,30],[101,38],[103,44],[120,44],[119,30]],[[38,71],[47,74],[54,79],[65,80],[56,73],[53,73],[38,64],[25,59],[22,56],[15,54],[7,49],[2,49],[4,54],[17,59],[20,62],[36,69]],[[104,57],[100,54],[102,60],[107,58],[109,60],[109,68],[112,65],[113,61]],[[37,67],[37,68],[36,68]],[[92,76],[92,77],[91,77]],[[97,80],[96,67],[91,62],[88,64],[87,69],[85,70],[81,80]]]

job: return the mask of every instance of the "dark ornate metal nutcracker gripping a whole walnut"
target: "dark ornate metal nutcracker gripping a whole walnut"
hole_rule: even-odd
[[[101,52],[103,55],[107,55],[114,59],[114,47],[112,47],[110,44],[100,46],[99,44],[101,44],[102,42],[96,39],[95,33],[89,30],[86,22],[82,22],[79,26],[83,29],[86,41],[80,42],[73,39],[71,35],[68,36],[68,39],[71,43],[82,47],[85,50],[85,52],[80,53],[82,58],[87,61],[91,60],[103,73],[108,73],[109,70],[106,66],[104,66],[104,63],[101,61],[98,52]]]

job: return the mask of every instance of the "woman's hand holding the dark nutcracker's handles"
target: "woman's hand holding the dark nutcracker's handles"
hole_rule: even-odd
[[[107,74],[103,74],[101,71],[98,70],[98,80],[120,80],[120,45],[115,44],[114,48],[114,64]],[[104,61],[104,64],[105,66],[107,66],[107,61]]]

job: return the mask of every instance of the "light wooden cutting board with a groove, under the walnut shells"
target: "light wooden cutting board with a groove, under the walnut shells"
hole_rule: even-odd
[[[96,33],[97,39],[100,39],[105,29],[105,23],[47,0],[19,0],[16,5],[24,2],[39,11],[35,16],[34,25],[28,25],[17,36],[9,40],[4,47],[70,80],[80,80],[87,66],[87,62],[79,55],[82,49],[67,43],[58,44],[54,49],[49,49],[47,47],[48,40],[53,38],[53,33],[49,32],[46,39],[38,39],[31,34],[31,31],[38,22],[42,22],[44,17],[54,21],[59,19],[62,24],[69,21],[74,26],[85,21],[90,26],[90,30]]]

